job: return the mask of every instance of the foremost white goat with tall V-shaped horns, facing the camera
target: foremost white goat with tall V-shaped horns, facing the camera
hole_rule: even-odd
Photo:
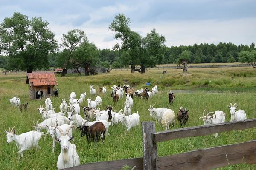
[[[61,153],[58,156],[57,168],[58,170],[78,166],[80,164],[79,156],[76,152],[76,145],[71,144],[70,140],[74,139],[74,136],[68,136],[69,130],[76,125],[69,126],[65,133],[58,126],[52,126],[59,130],[61,137],[55,137],[55,141],[61,145]]]

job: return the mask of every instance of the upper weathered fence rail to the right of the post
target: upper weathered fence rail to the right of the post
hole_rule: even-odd
[[[209,134],[225,132],[230,130],[249,129],[252,127],[256,127],[256,119],[247,119],[236,122],[219,123],[215,125],[203,125],[166,130],[153,133],[152,137],[154,142],[163,142],[193,136],[206,136]]]

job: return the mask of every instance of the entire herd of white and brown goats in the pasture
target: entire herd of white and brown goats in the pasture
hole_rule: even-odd
[[[50,98],[45,100],[44,105],[40,105],[38,108],[39,114],[44,119],[43,122],[39,123],[39,120],[34,123],[32,126],[35,131],[29,131],[22,133],[20,135],[16,134],[15,127],[9,128],[6,132],[7,143],[14,141],[18,147],[18,153],[23,157],[23,151],[28,150],[31,147],[39,148],[38,142],[41,136],[44,136],[44,132],[41,132],[42,129],[47,130],[47,134],[52,137],[52,152],[54,153],[55,142],[59,142],[61,146],[61,153],[58,156],[57,167],[58,169],[63,169],[67,167],[73,167],[80,164],[79,156],[76,152],[76,145],[71,144],[70,140],[74,140],[72,136],[72,128],[76,127],[81,131],[81,137],[86,136],[88,142],[98,142],[102,139],[102,142],[105,139],[105,134],[109,135],[108,128],[117,125],[119,122],[122,125],[125,125],[126,130],[129,131],[132,127],[138,126],[140,123],[140,116],[137,113],[131,114],[131,108],[133,107],[133,97],[137,96],[143,99],[149,99],[150,97],[158,93],[157,85],[149,91],[148,88],[141,90],[134,90],[134,88],[129,88],[128,85],[117,86],[114,85],[112,88],[111,97],[113,102],[118,102],[120,98],[123,97],[123,94],[126,95],[126,100],[124,103],[124,109],[119,112],[113,111],[113,107],[108,106],[105,110],[101,111],[97,106],[102,105],[102,99],[100,96],[97,96],[93,101],[90,97],[87,99],[87,107],[82,106],[81,104],[85,100],[86,93],[82,93],[79,99],[76,99],[76,94],[71,92],[69,98],[69,105],[67,101],[62,100],[61,105],[59,106],[60,112],[55,113],[55,110],[52,105]],[[125,91],[125,92],[124,92]],[[99,88],[98,93],[102,92],[103,94],[107,93],[106,87]],[[96,95],[96,89],[93,86],[90,86],[90,95]],[[175,100],[175,95],[169,91],[169,103],[172,103]],[[9,99],[11,105],[16,105],[18,108],[22,107],[20,105],[20,99],[14,97]],[[155,105],[155,104],[154,104]],[[154,108],[154,105],[148,109],[150,116],[154,117],[157,122],[160,122],[166,130],[169,129],[171,125],[175,122],[175,113],[171,109],[167,108]],[[231,122],[244,120],[246,119],[246,114],[243,110],[236,111],[237,103],[230,106],[231,113]],[[23,104],[23,107],[27,107],[27,103]],[[80,108],[82,108],[84,113],[84,119],[80,116]],[[186,122],[189,119],[189,110],[180,107],[179,113],[176,116],[176,119],[180,122],[180,126],[186,125]],[[66,117],[67,115],[67,117]],[[203,119],[204,125],[212,125],[216,123],[225,122],[225,113],[223,111],[209,112],[205,116],[205,110],[203,116],[199,119]],[[89,122],[93,120],[93,122]],[[75,124],[75,125],[73,125]],[[215,134],[215,138],[218,136],[218,133]]]

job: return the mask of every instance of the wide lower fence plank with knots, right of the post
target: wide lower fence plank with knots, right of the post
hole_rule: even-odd
[[[157,158],[157,170],[210,170],[232,164],[256,164],[256,140]]]

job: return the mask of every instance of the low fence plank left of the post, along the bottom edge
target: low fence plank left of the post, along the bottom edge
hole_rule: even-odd
[[[128,165],[130,167],[136,166],[134,170],[142,170],[142,158],[96,162],[90,164],[83,164],[76,167],[70,167],[64,170],[121,170],[124,165]]]

